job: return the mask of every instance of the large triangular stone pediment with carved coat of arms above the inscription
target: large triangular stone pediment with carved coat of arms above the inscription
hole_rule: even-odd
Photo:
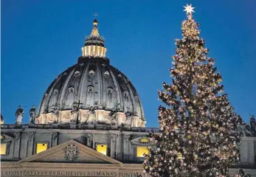
[[[105,156],[73,139],[22,159],[19,162],[122,164],[122,162]]]

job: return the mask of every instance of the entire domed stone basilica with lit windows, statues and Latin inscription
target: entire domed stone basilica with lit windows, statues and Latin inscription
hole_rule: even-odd
[[[135,87],[106,58],[104,38],[93,21],[74,66],[46,89],[30,122],[16,111],[15,124],[1,124],[1,176],[123,176],[142,173],[148,146],[142,102]],[[256,176],[256,136],[246,129],[241,162]],[[230,169],[237,173],[237,166]]]

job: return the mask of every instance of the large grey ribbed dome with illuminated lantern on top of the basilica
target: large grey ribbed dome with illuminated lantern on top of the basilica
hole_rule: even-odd
[[[37,123],[79,123],[144,127],[139,94],[128,77],[105,57],[97,20],[74,66],[55,78],[38,110]]]

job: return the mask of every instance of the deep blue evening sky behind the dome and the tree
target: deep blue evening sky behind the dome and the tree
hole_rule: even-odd
[[[111,65],[130,78],[147,126],[158,126],[157,89],[171,82],[174,39],[183,6],[196,7],[201,37],[224,77],[225,92],[244,120],[256,114],[256,1],[1,1],[1,112],[15,122],[18,105],[38,107],[52,80],[77,62],[93,14],[99,14]]]

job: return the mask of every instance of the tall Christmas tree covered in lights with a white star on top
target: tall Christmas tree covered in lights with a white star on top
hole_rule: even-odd
[[[160,133],[151,133],[143,163],[145,176],[229,176],[228,167],[239,160],[239,119],[229,103],[222,77],[207,58],[209,49],[199,37],[193,7],[185,7],[182,39],[170,69],[173,84],[163,83],[159,99]]]

